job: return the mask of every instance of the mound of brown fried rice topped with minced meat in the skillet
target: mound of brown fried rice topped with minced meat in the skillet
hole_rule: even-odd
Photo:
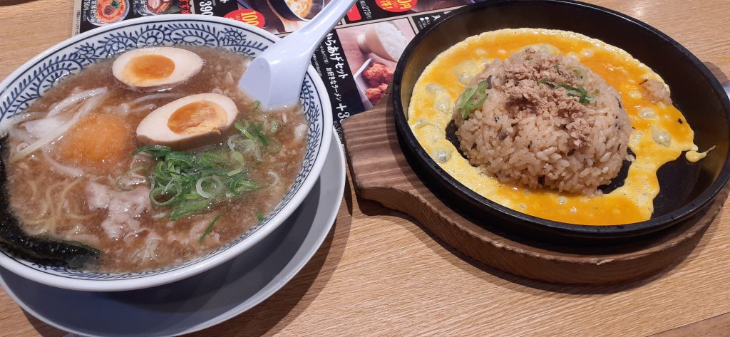
[[[576,58],[526,47],[486,64],[467,89],[455,133],[484,174],[592,195],[621,170],[631,133],[621,96]]]

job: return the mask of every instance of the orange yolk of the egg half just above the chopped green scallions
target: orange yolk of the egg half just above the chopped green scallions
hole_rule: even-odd
[[[177,134],[198,134],[220,130],[226,121],[222,106],[212,101],[197,101],[175,110],[167,120],[167,126]]]

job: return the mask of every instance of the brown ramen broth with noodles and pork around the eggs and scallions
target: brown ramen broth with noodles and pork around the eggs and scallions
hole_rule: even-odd
[[[282,200],[304,153],[307,123],[301,107],[259,109],[258,102],[237,89],[247,58],[212,48],[185,49],[199,55],[204,66],[172,90],[130,90],[115,80],[113,60],[107,60],[62,80],[20,114],[27,120],[10,129],[9,158],[3,160],[12,212],[26,233],[99,249],[101,263],[85,268],[145,271],[182,263],[223,246],[252,228]],[[12,159],[33,141],[31,130],[42,129],[42,123],[29,121],[47,117],[55,104],[93,88],[106,88],[106,92],[94,96],[99,104],[86,117],[60,139],[24,158]],[[132,155],[142,145],[135,130],[159,106],[199,93],[231,98],[239,110],[237,123],[268,125],[267,143],[277,144],[277,148],[261,147],[258,153],[247,155],[236,170],[247,171],[247,179],[256,186],[253,190],[208,206],[204,212],[171,220],[166,214],[169,209],[150,204],[150,174],[158,160],[145,152]],[[68,119],[91,99],[85,98],[78,104],[80,108],[66,109],[58,116],[66,114]],[[235,128],[227,132],[242,137]],[[235,147],[226,137],[206,146],[226,156]]]

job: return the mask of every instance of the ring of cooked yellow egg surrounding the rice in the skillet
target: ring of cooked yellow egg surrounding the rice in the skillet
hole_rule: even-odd
[[[575,58],[621,95],[633,128],[636,155],[623,186],[611,193],[582,195],[530,190],[483,174],[446,139],[454,102],[485,63],[509,58],[525,47]],[[694,131],[674,106],[645,97],[640,83],[658,74],[618,47],[569,31],[502,29],[472,36],[439,54],[415,84],[408,122],[416,139],[448,174],[476,193],[518,212],[580,225],[621,225],[648,220],[659,192],[656,171],[683,151],[698,150]],[[696,156],[694,156],[696,157]],[[692,157],[694,159],[694,157]]]

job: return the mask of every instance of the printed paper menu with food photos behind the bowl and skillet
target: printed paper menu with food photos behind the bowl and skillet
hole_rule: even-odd
[[[337,0],[74,0],[73,34],[149,15],[239,20],[283,36]],[[328,89],[334,125],[377,104],[418,31],[475,0],[358,0],[312,56]]]

